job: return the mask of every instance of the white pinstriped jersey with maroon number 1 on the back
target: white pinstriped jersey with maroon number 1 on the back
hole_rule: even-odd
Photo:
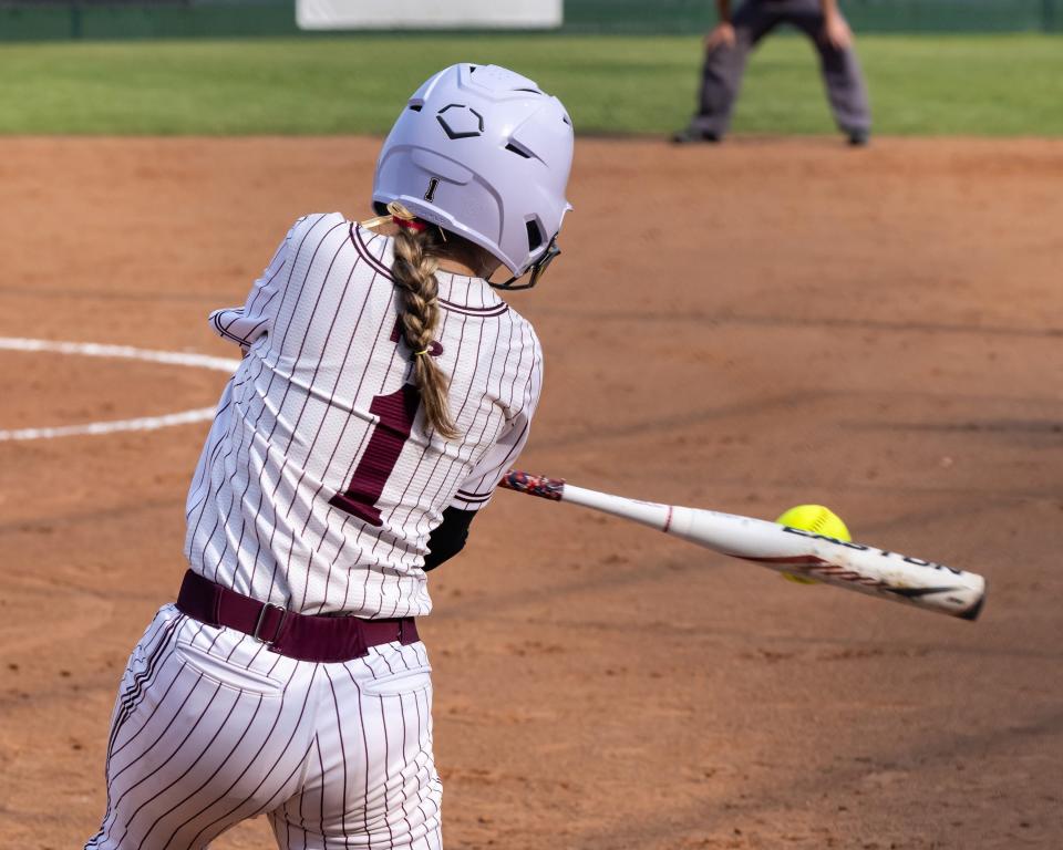
[[[461,437],[434,434],[401,339],[393,240],[299,219],[244,307],[210,323],[245,357],[187,500],[193,570],[303,613],[426,614],[430,532],[478,510],[528,436],[543,354],[479,278],[440,271],[430,356]]]

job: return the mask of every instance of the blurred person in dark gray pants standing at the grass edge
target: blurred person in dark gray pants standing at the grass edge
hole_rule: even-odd
[[[677,144],[719,142],[727,132],[745,62],[756,44],[782,23],[808,35],[834,120],[850,145],[866,145],[871,131],[867,89],[853,50],[853,31],[837,0],[745,0],[731,14],[731,0],[716,0],[720,22],[705,35],[701,100],[690,124],[672,136]]]

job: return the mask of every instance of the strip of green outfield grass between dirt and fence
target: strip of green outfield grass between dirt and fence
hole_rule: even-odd
[[[866,37],[875,128],[897,135],[1063,135],[1063,38]],[[0,46],[2,134],[383,133],[403,99],[462,60],[518,69],[579,132],[665,133],[694,103],[688,37],[365,35]],[[754,53],[734,129],[833,128],[812,45]]]

